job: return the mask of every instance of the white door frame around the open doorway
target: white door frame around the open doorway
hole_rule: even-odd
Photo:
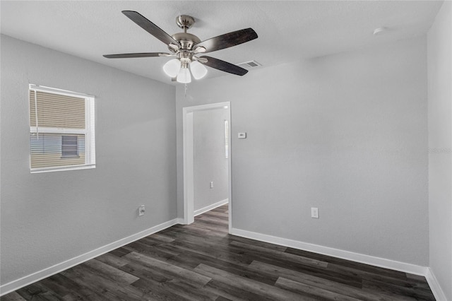
[[[194,222],[194,143],[193,143],[193,113],[195,111],[227,109],[229,112],[229,158],[227,158],[227,192],[229,194],[229,232],[232,222],[232,188],[231,188],[231,104],[218,102],[210,105],[196,105],[182,109],[183,139],[184,139],[184,224]]]

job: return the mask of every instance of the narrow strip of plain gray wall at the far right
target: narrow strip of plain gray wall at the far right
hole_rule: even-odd
[[[452,3],[428,33],[430,268],[452,300]]]

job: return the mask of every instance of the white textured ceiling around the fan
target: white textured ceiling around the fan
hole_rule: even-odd
[[[193,16],[201,40],[242,28],[258,39],[209,53],[266,66],[424,35],[442,1],[1,1],[1,33],[100,64],[171,83],[169,58],[105,59],[102,54],[168,52],[121,11],[138,11],[169,35]],[[379,35],[375,28],[386,27]],[[208,77],[234,76],[208,68]],[[173,83],[175,84],[175,83]]]

